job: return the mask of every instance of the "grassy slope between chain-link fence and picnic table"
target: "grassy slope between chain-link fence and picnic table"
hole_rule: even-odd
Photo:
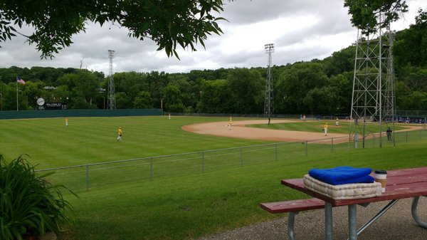
[[[197,239],[283,217],[263,211],[260,202],[307,196],[284,187],[280,179],[302,177],[313,167],[426,166],[426,143],[295,157],[80,194],[80,199],[71,199],[78,216],[73,239]]]

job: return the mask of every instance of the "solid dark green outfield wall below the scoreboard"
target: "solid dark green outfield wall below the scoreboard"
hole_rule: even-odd
[[[72,118],[72,117],[124,117],[162,115],[160,109],[117,109],[117,110],[33,110],[0,111],[1,119],[21,118]]]

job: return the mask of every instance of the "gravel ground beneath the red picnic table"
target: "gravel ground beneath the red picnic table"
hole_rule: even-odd
[[[368,221],[386,202],[373,203],[368,207],[357,207],[357,226]],[[347,207],[333,208],[334,239],[347,239]],[[268,221],[241,229],[226,231],[199,240],[285,240],[289,239],[287,215],[274,221]],[[427,222],[427,197],[421,197],[418,204],[418,216]],[[300,240],[325,239],[323,210],[300,212],[295,218],[295,238]],[[369,226],[359,240],[423,240],[427,239],[427,229],[423,229],[411,216],[411,199],[401,199],[388,212]]]

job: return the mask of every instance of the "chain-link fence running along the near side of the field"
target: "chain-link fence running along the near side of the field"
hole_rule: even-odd
[[[102,162],[72,167],[38,169],[37,172],[56,172],[50,181],[65,184],[75,192],[88,192],[105,186],[126,182],[153,181],[161,177],[179,177],[188,174],[203,174],[220,169],[235,169],[270,161],[292,160],[295,157],[310,157],[352,150],[354,148],[393,147],[427,138],[426,130],[394,132],[390,138],[385,133],[370,134],[355,139],[335,137],[299,142],[277,142],[247,147],[232,147],[220,150],[189,152],[177,155],[144,157],[116,162]]]

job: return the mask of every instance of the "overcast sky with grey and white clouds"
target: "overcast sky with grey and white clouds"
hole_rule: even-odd
[[[28,46],[25,38],[15,37],[0,43],[0,68],[80,68],[82,62],[83,68],[108,75],[109,49],[115,51],[115,73],[265,67],[266,43],[275,44],[274,65],[323,59],[357,40],[357,29],[350,23],[348,9],[343,4],[343,0],[226,1],[221,16],[228,22],[219,23],[223,35],[210,36],[206,49],[198,46],[196,52],[179,48],[181,61],[168,58],[164,51],[156,51],[157,46],[149,39],[139,41],[128,37],[127,29],[117,26],[89,24],[86,33],[73,36],[70,48],[60,51],[53,60],[41,60],[36,46]],[[409,12],[391,26],[392,30],[407,28],[414,23],[419,8],[427,9],[425,0],[408,0],[408,5]]]

